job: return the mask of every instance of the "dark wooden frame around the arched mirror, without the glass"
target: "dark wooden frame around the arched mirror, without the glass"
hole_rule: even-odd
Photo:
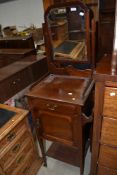
[[[48,24],[48,14],[53,8],[62,8],[67,6],[80,6],[86,16],[86,45],[87,45],[87,61],[74,61],[74,60],[56,60],[54,59],[54,52],[53,52],[53,45],[52,45],[52,37],[51,37],[51,30]],[[95,22],[90,20],[90,11],[89,8],[81,1],[73,1],[73,2],[64,2],[59,4],[54,4],[49,6],[44,14],[45,23],[43,24],[43,31],[44,31],[44,40],[45,40],[45,48],[46,48],[46,55],[48,66],[52,68],[53,66],[56,68],[62,68],[61,63],[81,63],[81,64],[90,64],[92,69],[95,65]],[[51,65],[51,66],[50,66]]]

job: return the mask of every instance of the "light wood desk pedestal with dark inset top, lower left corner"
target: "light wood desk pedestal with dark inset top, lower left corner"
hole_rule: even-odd
[[[42,165],[27,115],[0,104],[0,175],[35,175]]]

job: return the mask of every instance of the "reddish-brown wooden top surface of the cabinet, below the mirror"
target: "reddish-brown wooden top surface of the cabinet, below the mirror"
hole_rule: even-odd
[[[90,78],[49,75],[27,96],[83,105],[93,86]]]

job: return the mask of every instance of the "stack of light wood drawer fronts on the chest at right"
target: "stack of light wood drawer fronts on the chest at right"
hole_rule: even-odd
[[[105,87],[98,175],[117,174],[117,87]]]

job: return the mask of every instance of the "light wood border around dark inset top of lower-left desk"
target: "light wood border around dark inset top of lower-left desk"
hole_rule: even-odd
[[[27,110],[10,107],[8,105],[0,104],[1,109],[7,109],[16,113],[3,127],[0,128],[0,141],[11,131],[21,120],[23,120],[27,114]],[[4,117],[4,116],[2,116]]]

